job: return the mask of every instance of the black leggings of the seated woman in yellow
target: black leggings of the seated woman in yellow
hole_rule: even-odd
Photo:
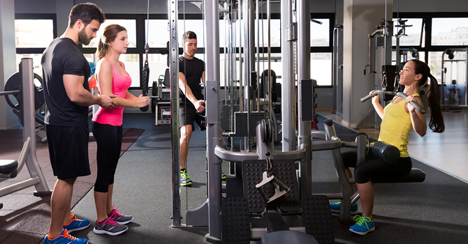
[[[367,183],[372,178],[399,178],[406,176],[411,171],[411,158],[400,158],[397,162],[389,164],[372,153],[366,156],[365,161],[356,166],[357,151],[342,153],[344,167],[354,168],[354,180],[356,183]]]

